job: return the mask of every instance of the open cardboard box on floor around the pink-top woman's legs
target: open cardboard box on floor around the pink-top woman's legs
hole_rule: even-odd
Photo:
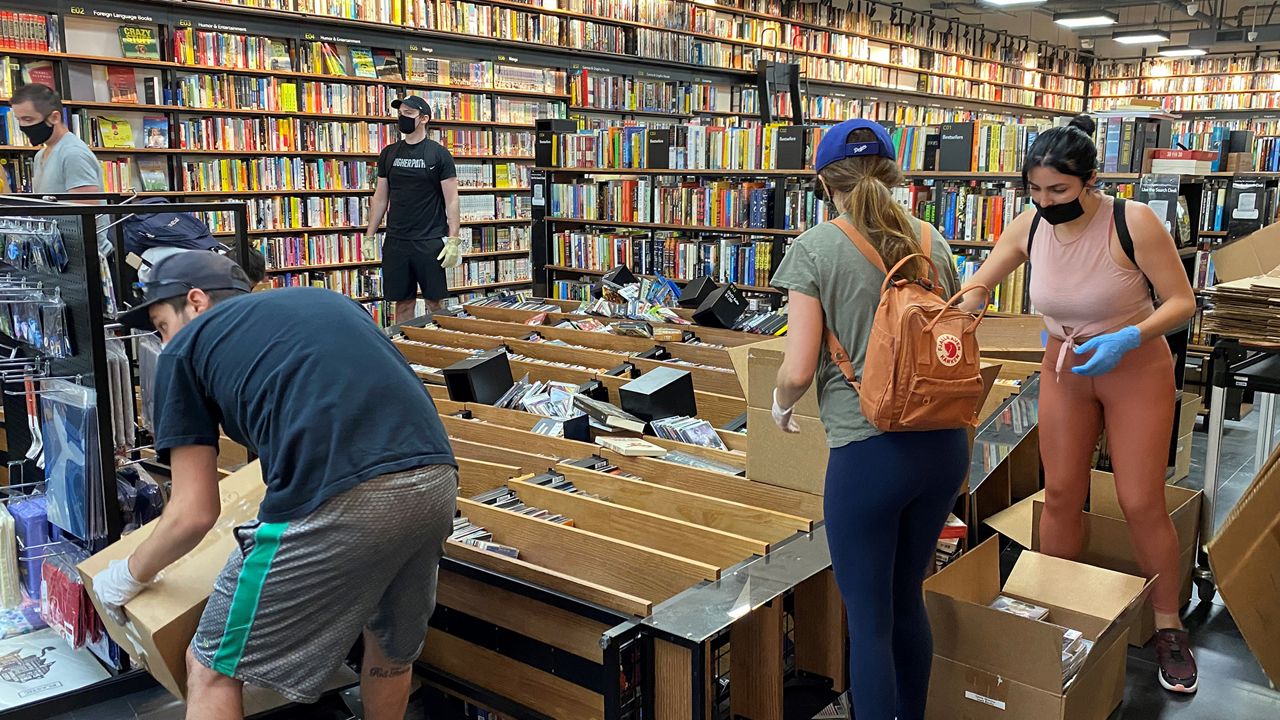
[[[1192,570],[1196,566],[1197,538],[1199,537],[1199,511],[1202,493],[1175,486],[1165,486],[1165,509],[1178,533],[1178,566],[1181,591],[1179,606],[1192,596]],[[1009,510],[987,519],[987,525],[1000,534],[1032,550],[1039,550],[1039,518],[1044,510],[1044,491],[1014,505]],[[1134,556],[1129,523],[1120,509],[1116,480],[1111,473],[1094,470],[1089,482],[1089,511],[1084,514],[1084,546],[1076,561],[1106,568],[1129,575],[1142,575]],[[1156,618],[1151,603],[1134,618],[1129,643],[1147,644],[1156,634]]]

